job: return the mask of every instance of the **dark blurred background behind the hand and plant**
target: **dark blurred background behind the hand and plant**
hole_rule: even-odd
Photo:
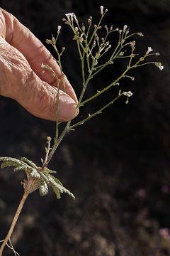
[[[64,137],[50,169],[57,171],[76,201],[67,195],[57,200],[52,191],[44,198],[38,191],[28,197],[12,236],[13,246],[24,256],[170,255],[170,1],[0,0],[0,6],[42,43],[62,24],[59,46],[66,47],[64,72],[77,94],[79,58],[62,18],[75,12],[81,22],[89,16],[95,22],[101,5],[108,8],[106,23],[114,28],[128,24],[131,32],[144,33],[144,38],[134,38],[137,52],[145,53],[151,46],[161,53],[153,60],[162,62],[164,70],[154,66],[134,70],[134,82],[121,81],[125,90],[134,92],[128,105],[125,99],[119,100]],[[115,63],[108,73],[99,75],[91,82],[89,95],[97,85],[100,89],[111,82],[121,68],[121,63]],[[104,105],[108,95],[82,109],[79,116]],[[0,119],[0,155],[26,156],[40,164],[45,138],[54,136],[55,123],[33,117],[5,97],[0,97]],[[22,197],[23,178],[22,172],[0,171],[0,240]],[[4,255],[12,255],[11,250],[6,248]]]

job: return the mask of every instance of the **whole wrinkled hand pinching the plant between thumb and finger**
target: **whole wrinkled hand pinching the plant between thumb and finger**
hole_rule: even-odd
[[[0,9],[0,95],[11,97],[28,112],[55,121],[57,81],[42,63],[50,65],[58,78],[60,68],[50,52],[16,17]],[[77,114],[77,97],[64,76],[60,82],[59,119],[66,122]]]

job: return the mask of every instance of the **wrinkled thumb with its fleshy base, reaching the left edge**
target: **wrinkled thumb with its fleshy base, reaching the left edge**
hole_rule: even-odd
[[[43,119],[56,120],[56,87],[42,81],[30,68],[26,58],[0,38],[0,95],[11,97],[28,112]],[[60,90],[59,121],[66,122],[77,114],[77,103]]]

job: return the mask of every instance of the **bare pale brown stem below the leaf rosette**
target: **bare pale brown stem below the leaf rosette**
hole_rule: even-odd
[[[16,210],[16,214],[15,214],[14,217],[13,217],[13,221],[12,221],[12,223],[11,223],[11,227],[10,227],[10,229],[8,230],[8,235],[6,235],[6,238],[4,239],[4,242],[3,242],[2,245],[1,245],[1,248],[0,248],[0,256],[2,255],[2,252],[3,252],[3,250],[4,250],[4,247],[5,247],[6,243],[7,243],[8,240],[11,238],[11,235],[12,235],[12,233],[13,233],[13,229],[15,228],[16,222],[17,222],[17,220],[18,220],[18,217],[19,217],[19,215],[20,215],[20,213],[21,213],[21,210],[22,210],[22,208],[23,208],[23,204],[25,203],[27,197],[28,197],[28,192],[25,191],[24,194],[23,194],[23,197],[22,197],[22,199],[21,199],[21,202],[20,202],[20,204],[19,204],[19,206],[18,206],[18,209]]]

